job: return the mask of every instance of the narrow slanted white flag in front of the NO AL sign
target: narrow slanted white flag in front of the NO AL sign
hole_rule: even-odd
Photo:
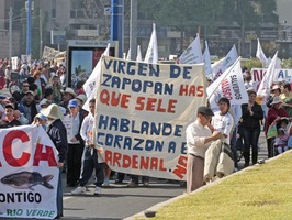
[[[274,56],[272,57],[272,61],[263,76],[263,78],[260,81],[258,92],[257,95],[260,97],[268,98],[270,96],[270,89],[273,81],[273,73],[274,73],[274,66],[277,62],[278,52],[276,52]]]

